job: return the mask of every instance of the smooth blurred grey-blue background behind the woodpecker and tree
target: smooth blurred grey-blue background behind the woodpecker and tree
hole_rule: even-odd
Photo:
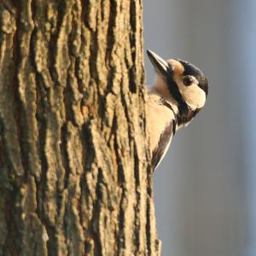
[[[210,81],[207,106],[154,173],[163,256],[256,255],[255,9],[253,0],[144,1],[145,49],[190,61]]]

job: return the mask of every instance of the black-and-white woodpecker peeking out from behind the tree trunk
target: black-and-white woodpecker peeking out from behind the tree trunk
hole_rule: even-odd
[[[180,59],[165,61],[147,50],[156,79],[148,91],[146,118],[153,171],[160,165],[177,130],[189,125],[205,106],[208,80],[195,65]]]

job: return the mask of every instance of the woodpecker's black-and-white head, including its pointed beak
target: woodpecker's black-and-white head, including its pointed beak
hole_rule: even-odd
[[[178,123],[186,125],[205,105],[208,94],[206,76],[187,61],[165,61],[149,49],[147,54],[157,76],[154,90],[166,101],[175,102],[179,115]]]

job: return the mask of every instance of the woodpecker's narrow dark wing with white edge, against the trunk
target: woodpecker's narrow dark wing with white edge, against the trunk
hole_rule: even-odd
[[[166,129],[161,133],[160,140],[157,146],[153,150],[151,165],[153,170],[159,166],[161,160],[166,155],[166,152],[172,142],[172,135],[176,131],[176,121],[172,120],[169,125],[166,126]]]

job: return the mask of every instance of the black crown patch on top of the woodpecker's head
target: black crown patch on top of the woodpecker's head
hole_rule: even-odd
[[[187,61],[181,61],[178,59],[177,59],[177,61],[179,61],[183,64],[183,67],[184,67],[183,75],[194,76],[199,82],[198,86],[201,88],[201,90],[205,91],[206,96],[207,96],[208,95],[208,80],[207,80],[206,76],[204,75],[204,73],[202,73],[198,67],[195,67],[193,64],[191,64]]]

